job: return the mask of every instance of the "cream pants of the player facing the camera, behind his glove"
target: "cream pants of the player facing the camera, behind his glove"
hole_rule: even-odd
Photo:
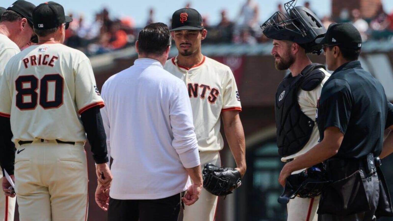
[[[200,166],[203,170],[205,164],[221,166],[219,151],[204,151],[199,153]],[[184,221],[214,221],[218,197],[202,188],[202,193],[196,203],[185,206]]]

